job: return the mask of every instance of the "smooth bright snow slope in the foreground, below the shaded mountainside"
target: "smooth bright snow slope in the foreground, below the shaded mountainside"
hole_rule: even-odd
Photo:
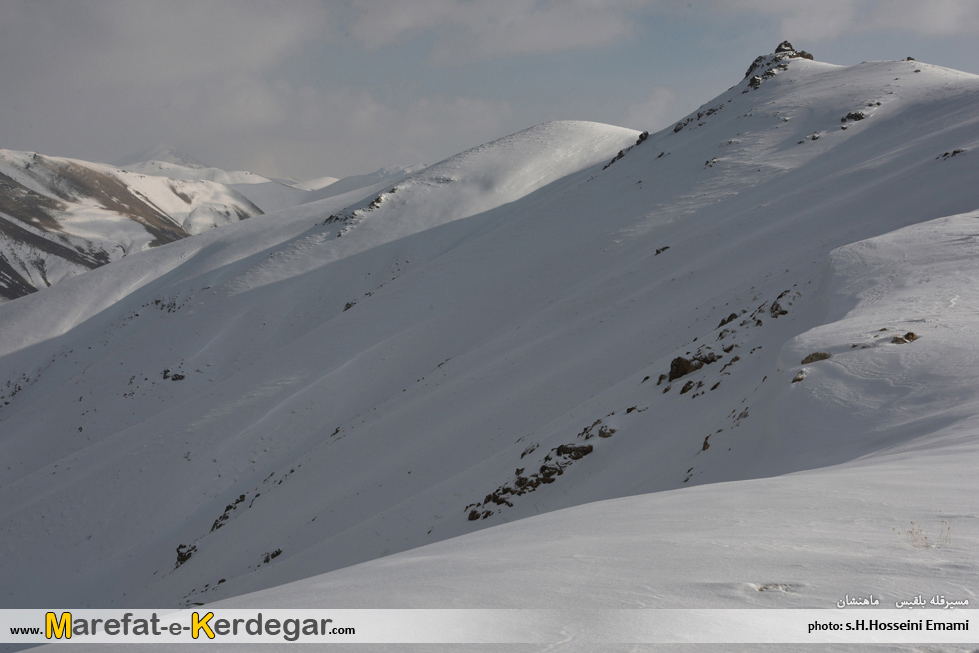
[[[970,498],[975,481],[971,466],[961,461],[974,460],[976,454],[974,441],[960,442],[925,456],[921,451],[895,451],[839,467],[594,502],[207,607],[547,608],[558,610],[558,615],[593,616],[581,623],[565,618],[564,640],[546,647],[457,644],[450,650],[635,651],[636,645],[594,644],[596,625],[610,621],[599,611],[832,610],[846,596],[870,595],[880,601],[880,608],[893,608],[918,594],[967,599],[975,605],[979,523]],[[909,483],[919,476],[941,482]],[[917,526],[920,537],[937,543],[943,523],[951,524],[948,544],[921,546],[916,542],[923,540],[908,534]],[[875,611],[846,616],[873,618],[879,616]],[[932,614],[916,610],[908,616]],[[372,623],[368,618],[355,626],[358,632],[370,632]],[[105,648],[83,645],[81,650]],[[661,644],[638,650],[693,648]],[[974,648],[698,644],[695,650],[971,653]],[[266,649],[278,650],[275,645]],[[433,647],[356,644],[356,650]]]

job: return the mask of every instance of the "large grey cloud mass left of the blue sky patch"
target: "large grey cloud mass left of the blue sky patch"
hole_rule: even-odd
[[[385,38],[414,14],[398,15]],[[337,42],[343,16],[317,0],[5,0],[3,146],[105,161],[166,141],[223,167],[308,176],[430,163],[505,133],[505,101],[382,101],[276,76],[302,48]]]

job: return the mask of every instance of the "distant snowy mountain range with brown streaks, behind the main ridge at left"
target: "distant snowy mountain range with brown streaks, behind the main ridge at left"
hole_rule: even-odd
[[[150,158],[115,167],[0,150],[0,302],[136,251],[325,197],[368,192],[424,167],[301,184],[209,167],[166,145],[138,156]]]

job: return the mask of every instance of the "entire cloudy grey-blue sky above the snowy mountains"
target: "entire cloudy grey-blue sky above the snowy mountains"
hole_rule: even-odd
[[[661,129],[783,39],[979,73],[976,34],[971,0],[0,0],[0,147],[341,177],[545,120]]]

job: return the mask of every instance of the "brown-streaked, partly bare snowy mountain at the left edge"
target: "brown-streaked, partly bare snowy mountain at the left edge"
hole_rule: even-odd
[[[0,300],[259,214],[219,184],[0,150]]]

